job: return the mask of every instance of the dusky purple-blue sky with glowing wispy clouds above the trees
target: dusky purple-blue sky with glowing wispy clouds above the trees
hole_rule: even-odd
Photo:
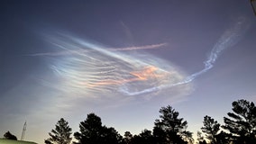
[[[0,135],[43,143],[95,112],[107,127],[152,130],[171,105],[197,135],[209,115],[256,101],[249,1],[2,1]]]

